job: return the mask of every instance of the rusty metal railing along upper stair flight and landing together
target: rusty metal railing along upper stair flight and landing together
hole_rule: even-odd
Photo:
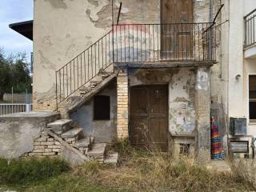
[[[112,63],[214,61],[216,36],[216,28],[208,22],[113,26],[56,71],[57,107]]]

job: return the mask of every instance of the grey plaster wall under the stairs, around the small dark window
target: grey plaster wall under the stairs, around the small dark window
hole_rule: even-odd
[[[94,121],[94,99],[86,102],[79,110],[70,114],[70,118],[78,121],[86,136],[94,136],[95,142],[111,142],[116,138],[117,119],[117,87],[116,82],[111,82],[97,95],[110,96],[110,120]]]

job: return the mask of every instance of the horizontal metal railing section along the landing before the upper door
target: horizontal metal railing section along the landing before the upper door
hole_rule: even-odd
[[[216,29],[211,25],[172,23],[114,26],[114,62],[213,61],[216,59]]]

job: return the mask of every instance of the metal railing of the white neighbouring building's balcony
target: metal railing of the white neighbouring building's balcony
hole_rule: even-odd
[[[244,17],[245,22],[245,48],[252,46],[256,43],[256,34],[255,34],[255,18],[256,18],[256,9],[251,11]]]

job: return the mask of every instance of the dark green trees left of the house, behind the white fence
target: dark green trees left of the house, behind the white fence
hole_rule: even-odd
[[[31,93],[32,78],[30,67],[26,62],[26,54],[5,56],[4,50],[0,49],[0,99],[2,94],[10,93],[11,87],[14,93]]]

